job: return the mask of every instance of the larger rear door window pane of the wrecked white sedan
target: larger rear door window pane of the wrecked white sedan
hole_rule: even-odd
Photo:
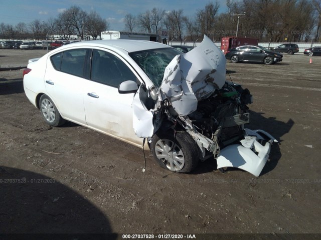
[[[63,52],[60,70],[72,75],[84,75],[84,66],[87,49],[72,49]]]

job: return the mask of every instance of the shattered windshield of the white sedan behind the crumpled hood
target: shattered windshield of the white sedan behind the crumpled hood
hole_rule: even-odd
[[[129,53],[157,88],[162,84],[165,68],[178,54],[182,54],[182,52],[173,47]]]

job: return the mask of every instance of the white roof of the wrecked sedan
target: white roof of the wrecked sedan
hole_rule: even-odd
[[[64,48],[70,47],[71,44],[66,45]],[[98,47],[108,47],[108,48],[118,48],[123,49],[127,52],[141,51],[155,48],[171,47],[169,45],[147,41],[147,40],[127,40],[127,39],[114,39],[114,40],[90,40],[74,42],[72,46],[98,46]],[[63,48],[60,48],[63,49]]]

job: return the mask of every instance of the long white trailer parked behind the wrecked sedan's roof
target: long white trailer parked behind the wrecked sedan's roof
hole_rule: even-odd
[[[132,39],[132,40],[148,40],[158,41],[158,34],[138,33],[126,31],[102,31],[101,39]]]

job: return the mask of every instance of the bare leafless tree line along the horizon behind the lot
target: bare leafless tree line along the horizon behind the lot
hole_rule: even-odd
[[[260,41],[321,42],[321,0],[226,0],[227,10],[220,13],[220,7],[217,1],[210,1],[192,16],[186,16],[183,9],[165,11],[155,7],[137,15],[128,13],[123,18],[122,30],[161,34],[166,29],[169,40],[174,41],[201,41],[204,34],[220,41],[237,31],[238,36]],[[76,34],[81,39],[86,36],[96,39],[104,30],[111,30],[109,22],[97,12],[87,13],[78,6],[46,22],[36,19],[16,26],[0,23],[0,35],[10,33],[11,38],[21,38],[19,34],[26,32],[34,38],[59,32],[63,38]]]

